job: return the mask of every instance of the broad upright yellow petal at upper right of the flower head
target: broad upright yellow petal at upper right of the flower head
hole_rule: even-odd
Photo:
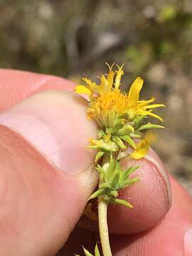
[[[142,90],[144,80],[140,77],[136,78],[129,89],[128,102],[130,106],[136,105],[139,100],[139,93]]]

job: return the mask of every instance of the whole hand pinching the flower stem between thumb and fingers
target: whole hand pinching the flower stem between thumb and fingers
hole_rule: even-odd
[[[1,255],[55,255],[67,240],[58,255],[91,250],[97,234],[74,229],[97,183],[85,100],[62,78],[1,70],[0,81]],[[170,189],[154,151],[139,165],[122,192],[134,208],[110,206],[113,255],[192,255],[191,196],[171,177]]]

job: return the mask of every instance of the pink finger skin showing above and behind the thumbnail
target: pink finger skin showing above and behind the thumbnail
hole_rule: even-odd
[[[29,95],[44,90],[73,90],[74,84],[53,75],[0,69],[0,111],[25,99]]]

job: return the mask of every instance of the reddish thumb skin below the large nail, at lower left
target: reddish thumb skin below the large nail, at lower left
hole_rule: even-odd
[[[2,125],[0,168],[1,255],[55,255],[80,218],[95,173],[65,174]]]

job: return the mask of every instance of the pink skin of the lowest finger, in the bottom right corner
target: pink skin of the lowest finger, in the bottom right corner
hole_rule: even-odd
[[[173,203],[165,218],[148,232],[113,236],[114,256],[186,256],[184,235],[192,227],[192,198],[173,178],[171,186]]]

